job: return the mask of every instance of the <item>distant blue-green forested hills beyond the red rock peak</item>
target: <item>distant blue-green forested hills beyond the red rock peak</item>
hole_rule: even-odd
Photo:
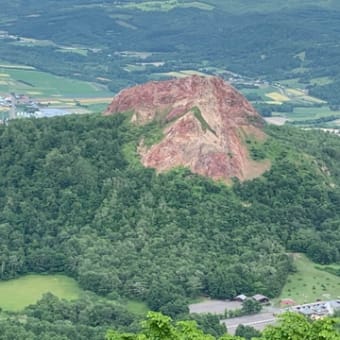
[[[113,91],[188,69],[294,78],[339,104],[338,84],[329,85],[340,74],[336,1],[17,0],[1,6],[0,30],[9,34],[1,35],[4,60],[107,78]]]

